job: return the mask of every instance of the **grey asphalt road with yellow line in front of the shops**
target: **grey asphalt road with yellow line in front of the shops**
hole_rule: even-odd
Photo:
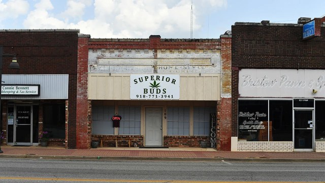
[[[325,163],[0,158],[0,182],[321,182]]]

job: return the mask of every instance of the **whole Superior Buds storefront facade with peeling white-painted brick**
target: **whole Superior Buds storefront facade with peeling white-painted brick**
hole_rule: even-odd
[[[98,140],[103,146],[165,147],[197,147],[212,141],[219,150],[230,149],[231,36],[91,39],[84,35],[79,38],[78,60],[83,60],[78,66],[78,93],[85,94],[88,87],[88,104],[79,103],[77,116],[87,117],[88,124],[77,122],[77,148],[89,148],[90,140]],[[144,80],[151,88],[136,85]],[[216,115],[215,141],[209,137],[210,113]],[[118,126],[113,126],[112,116],[121,116]]]

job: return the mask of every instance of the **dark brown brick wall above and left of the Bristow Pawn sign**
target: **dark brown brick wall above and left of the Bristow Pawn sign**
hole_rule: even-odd
[[[325,27],[321,27],[325,32]],[[232,26],[232,136],[238,134],[240,69],[325,69],[324,35],[302,40],[302,25],[235,23]]]

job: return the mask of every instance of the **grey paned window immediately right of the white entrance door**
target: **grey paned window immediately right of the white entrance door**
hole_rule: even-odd
[[[189,135],[189,108],[167,108],[168,135]]]

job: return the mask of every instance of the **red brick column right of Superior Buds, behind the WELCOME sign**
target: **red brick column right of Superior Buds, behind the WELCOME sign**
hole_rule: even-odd
[[[220,149],[231,150],[232,137],[232,36],[221,35]]]

